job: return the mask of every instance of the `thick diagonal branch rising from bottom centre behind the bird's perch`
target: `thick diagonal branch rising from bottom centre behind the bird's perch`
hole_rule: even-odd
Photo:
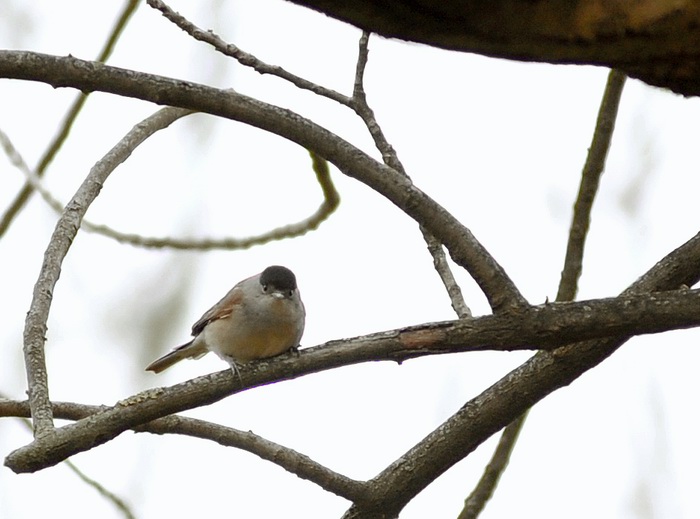
[[[700,280],[700,234],[668,254],[623,295],[693,285]],[[573,305],[576,303],[562,303]],[[556,306],[558,306],[557,304]],[[583,337],[582,337],[583,339]],[[346,518],[395,517],[422,489],[551,392],[576,380],[628,339],[584,340],[540,351],[467,402],[457,413],[370,480],[372,498]],[[430,463],[417,460],[430,459]]]

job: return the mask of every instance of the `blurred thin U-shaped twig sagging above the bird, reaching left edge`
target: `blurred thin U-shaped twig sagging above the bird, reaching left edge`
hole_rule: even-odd
[[[51,192],[46,189],[43,182],[29,168],[27,163],[22,158],[21,154],[12,144],[10,138],[0,130],[0,146],[5,150],[6,155],[26,177],[44,201],[57,213],[63,212],[64,204],[57,200]],[[311,153],[312,168],[316,174],[316,179],[321,186],[323,192],[323,202],[319,208],[309,217],[299,222],[272,229],[266,233],[249,238],[220,238],[220,239],[199,239],[185,240],[178,238],[158,238],[151,236],[143,236],[140,234],[129,234],[117,231],[107,225],[96,224],[87,219],[81,222],[81,228],[89,232],[94,232],[108,238],[112,238],[120,243],[129,245],[146,247],[146,248],[171,248],[181,250],[213,250],[213,249],[246,249],[254,245],[261,245],[270,241],[282,240],[285,238],[293,238],[301,236],[309,231],[313,231],[328,219],[330,215],[338,208],[340,203],[340,195],[333,185],[330,176],[328,162],[322,157],[319,157],[314,152]]]

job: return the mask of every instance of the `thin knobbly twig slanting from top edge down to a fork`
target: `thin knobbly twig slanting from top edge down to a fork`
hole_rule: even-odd
[[[252,54],[239,49],[236,45],[224,41],[213,31],[205,31],[204,29],[200,29],[180,13],[173,11],[165,2],[162,2],[161,0],[147,0],[147,3],[149,6],[160,11],[165,18],[177,25],[195,40],[208,43],[223,55],[234,58],[241,65],[250,67],[259,74],[270,74],[290,82],[297,88],[308,90],[314,94],[326,97],[345,106],[348,106],[350,103],[350,98],[341,94],[340,92],[336,92],[335,90],[313,83],[307,79],[304,79],[303,77],[297,76],[296,74],[292,74],[280,66],[265,63]]]

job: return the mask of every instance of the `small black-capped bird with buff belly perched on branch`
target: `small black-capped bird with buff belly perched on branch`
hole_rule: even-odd
[[[306,310],[294,273],[273,265],[229,290],[192,326],[194,339],[148,365],[160,373],[210,351],[231,363],[274,357],[299,346]]]

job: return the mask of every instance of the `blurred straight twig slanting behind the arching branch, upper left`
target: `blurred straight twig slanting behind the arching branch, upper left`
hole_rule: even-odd
[[[107,42],[105,43],[104,48],[97,57],[98,62],[104,63],[112,55],[112,51],[114,50],[114,47],[117,44],[117,41],[119,40],[119,37],[124,32],[124,29],[126,28],[129,19],[134,14],[134,11],[136,11],[136,8],[139,6],[139,3],[139,0],[127,0],[126,4],[124,5],[124,9],[121,15],[119,16],[119,19],[114,24],[114,28],[112,29],[109,37],[107,38]],[[88,95],[90,95],[90,92],[79,93],[75,101],[73,101],[73,104],[68,109],[68,112],[66,112],[58,134],[56,134],[53,141],[49,143],[49,146],[44,152],[44,155],[39,160],[39,165],[36,167],[35,170],[37,177],[41,178],[44,175],[44,173],[46,173],[46,169],[49,167],[54,157],[61,149],[61,146],[63,146],[63,143],[68,138],[68,134],[70,133],[70,130],[73,127],[73,123],[75,122],[75,120],[78,117],[78,114],[85,105],[85,101],[87,101]],[[27,182],[17,194],[15,199],[12,201],[10,206],[5,210],[5,213],[2,215],[2,218],[0,218],[0,237],[2,237],[5,234],[7,229],[12,224],[13,220],[17,217],[22,208],[26,205],[33,190],[34,187],[32,183]]]

